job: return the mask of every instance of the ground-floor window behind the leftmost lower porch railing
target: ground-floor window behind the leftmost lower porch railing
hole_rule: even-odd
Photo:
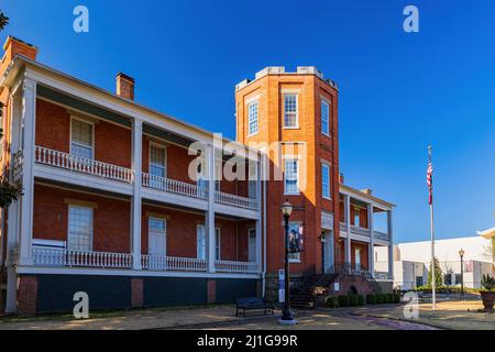
[[[69,206],[67,248],[84,252],[92,250],[92,208]]]

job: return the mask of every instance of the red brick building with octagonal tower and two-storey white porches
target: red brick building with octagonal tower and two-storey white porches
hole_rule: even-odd
[[[18,38],[4,51],[1,169],[24,189],[1,213],[8,312],[72,310],[77,292],[92,309],[264,295],[283,267],[286,198],[296,274],[373,273],[369,249],[391,245],[392,217],[378,233],[373,213],[393,205],[339,182],[338,90],[314,67],[238,85],[233,142],[136,103],[127,75],[112,94]]]

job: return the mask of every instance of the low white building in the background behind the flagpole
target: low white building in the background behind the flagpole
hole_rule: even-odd
[[[484,234],[480,232],[480,234]],[[461,283],[460,250],[464,251],[464,286],[480,288],[484,274],[494,274],[493,240],[486,235],[437,240],[435,255],[442,270],[442,283],[455,286]],[[428,283],[431,261],[431,242],[399,243],[394,246],[394,287],[411,289]],[[375,249],[375,268],[388,266],[387,253]]]

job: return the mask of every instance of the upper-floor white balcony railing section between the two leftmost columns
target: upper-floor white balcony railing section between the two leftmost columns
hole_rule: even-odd
[[[50,150],[38,145],[36,145],[35,160],[36,163],[40,164],[69,169],[81,174],[105,177],[124,183],[132,183],[133,180],[132,169],[76,156],[61,151]]]

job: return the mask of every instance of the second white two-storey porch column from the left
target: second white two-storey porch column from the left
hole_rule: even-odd
[[[143,121],[134,120],[132,129],[132,169],[134,170],[134,193],[132,195],[132,268],[141,270],[141,188],[143,168]]]

